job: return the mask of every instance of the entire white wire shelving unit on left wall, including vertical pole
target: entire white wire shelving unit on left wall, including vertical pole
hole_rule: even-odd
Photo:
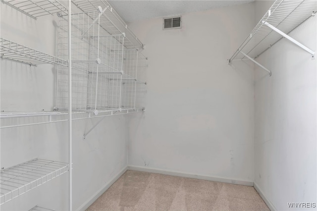
[[[1,110],[0,128],[68,121],[69,160],[33,159],[2,168],[0,204],[68,171],[72,210],[72,121],[145,110],[147,57],[140,52],[144,45],[106,0],[73,0],[68,7],[57,0],[1,1],[34,19],[56,14],[60,21],[57,56],[0,38],[1,59],[58,68],[53,111]],[[71,13],[72,3],[81,13]],[[31,210],[50,209],[36,206]]]

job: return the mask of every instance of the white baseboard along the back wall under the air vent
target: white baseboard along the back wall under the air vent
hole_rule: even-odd
[[[244,181],[244,180],[231,179],[231,178],[225,178],[225,177],[212,177],[207,175],[197,175],[197,174],[191,174],[187,172],[164,170],[159,168],[149,168],[149,167],[143,167],[143,166],[128,165],[128,169],[135,170],[135,171],[145,171],[150,173],[166,174],[171,176],[203,179],[203,180],[209,180],[214,182],[225,182],[225,183],[231,183],[231,184],[237,184],[237,185],[253,186],[253,181]]]

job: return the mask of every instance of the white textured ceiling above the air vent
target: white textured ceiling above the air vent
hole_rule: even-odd
[[[180,15],[254,0],[108,0],[125,22]]]

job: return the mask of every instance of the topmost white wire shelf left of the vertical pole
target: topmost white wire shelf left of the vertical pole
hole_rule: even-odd
[[[67,15],[67,8],[57,0],[1,0],[20,12],[37,19],[44,15]]]

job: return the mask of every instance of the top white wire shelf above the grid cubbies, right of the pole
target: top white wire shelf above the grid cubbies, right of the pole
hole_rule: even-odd
[[[125,33],[126,41],[124,46],[127,49],[143,48],[142,42],[133,34],[127,24],[122,18],[114,11],[106,0],[72,0],[72,2],[83,12],[95,11],[99,6],[104,11],[100,18],[100,26],[110,35],[117,35]],[[94,17],[92,17],[94,19]]]

